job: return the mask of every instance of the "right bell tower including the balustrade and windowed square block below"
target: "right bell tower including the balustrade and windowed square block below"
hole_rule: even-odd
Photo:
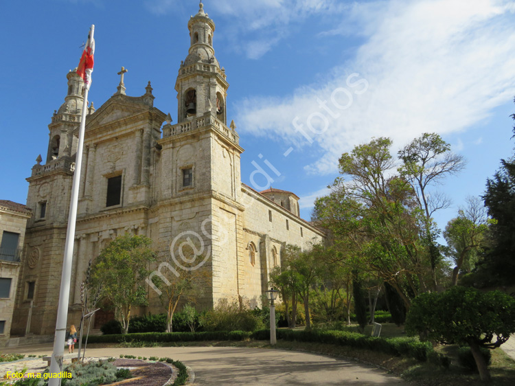
[[[200,3],[187,23],[190,49],[175,83],[177,123],[163,126],[163,198],[220,194],[237,201],[241,191],[240,137],[227,124],[227,83],[213,47],[215,23]],[[168,185],[167,185],[168,184]]]

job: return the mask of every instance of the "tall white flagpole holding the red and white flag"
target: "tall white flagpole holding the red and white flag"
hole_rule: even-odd
[[[91,25],[90,41],[93,41],[95,25]],[[84,102],[82,104],[82,116],[80,118],[79,141],[73,173],[73,185],[71,188],[70,212],[68,215],[68,229],[65,242],[65,258],[62,262],[61,287],[59,292],[59,305],[57,308],[56,333],[54,334],[54,352],[50,363],[50,376],[58,376],[62,372],[62,358],[65,352],[65,338],[67,330],[68,303],[70,295],[71,263],[73,261],[73,240],[75,238],[75,225],[77,220],[77,205],[79,198],[80,170],[82,168],[82,147],[84,145],[84,131],[86,127],[86,111],[88,108],[88,93],[91,77],[84,82]],[[59,386],[61,378],[49,378],[49,386]]]

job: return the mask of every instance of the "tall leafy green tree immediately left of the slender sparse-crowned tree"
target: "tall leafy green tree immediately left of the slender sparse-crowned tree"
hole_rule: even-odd
[[[335,186],[341,195],[347,194],[347,202],[359,205],[354,205],[352,216],[359,221],[354,229],[358,227],[364,234],[363,258],[369,268],[398,291],[408,308],[410,296],[401,285],[404,278],[413,295],[426,288],[420,224],[413,189],[405,179],[392,175],[395,161],[390,148],[390,139],[378,138],[344,153],[339,161],[340,172],[350,176],[351,181],[339,181]]]

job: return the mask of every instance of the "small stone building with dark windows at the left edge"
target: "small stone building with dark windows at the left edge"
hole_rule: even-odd
[[[29,207],[0,200],[0,347],[10,339],[25,227],[31,216]]]

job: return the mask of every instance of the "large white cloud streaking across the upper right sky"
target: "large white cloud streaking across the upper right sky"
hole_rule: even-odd
[[[376,3],[374,3],[376,4]],[[483,120],[515,93],[515,3],[506,1],[390,1],[354,4],[366,43],[344,67],[334,67],[323,84],[299,87],[278,98],[251,98],[238,108],[241,130],[301,147],[319,146],[323,156],[306,165],[315,173],[336,172],[342,152],[371,137],[388,136],[400,147],[424,132],[448,134]],[[363,15],[363,16],[360,16]],[[345,23],[345,21],[344,21]],[[332,30],[332,34],[348,33]],[[351,72],[359,73],[347,84]],[[368,90],[358,95],[365,78]],[[335,108],[334,90],[346,89],[352,104]],[[332,113],[319,100],[327,101]],[[339,92],[336,102],[345,104]],[[325,122],[313,113],[323,113]],[[339,113],[337,117],[331,114]],[[304,134],[292,122],[303,125]]]

